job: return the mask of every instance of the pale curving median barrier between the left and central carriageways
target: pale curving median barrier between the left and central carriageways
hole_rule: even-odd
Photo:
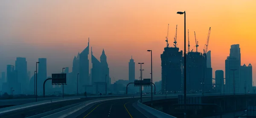
[[[90,105],[90,104],[93,104],[93,103],[98,103],[98,102],[102,102],[102,101],[110,101],[110,100],[116,100],[116,99],[124,99],[124,98],[131,98],[131,97],[118,97],[118,98],[99,98],[99,99],[95,99],[95,100],[90,100],[90,101],[85,101],[75,107],[71,107],[67,110],[63,110],[61,112],[57,112],[57,113],[54,113],[52,115],[47,115],[45,117],[42,117],[42,118],[64,118],[64,117],[67,117],[68,115],[71,115],[73,114],[74,112],[77,112],[79,110],[81,110],[82,108]],[[135,98],[135,97],[134,97]]]

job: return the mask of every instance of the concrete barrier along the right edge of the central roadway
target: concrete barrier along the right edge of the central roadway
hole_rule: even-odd
[[[138,100],[137,105],[140,108],[142,108],[143,110],[151,113],[152,115],[154,115],[157,118],[176,118],[176,117],[174,117],[172,115],[169,115],[169,114],[166,114],[164,112],[158,111],[158,110],[156,110],[154,108],[148,107],[147,105],[140,103],[140,100]]]

